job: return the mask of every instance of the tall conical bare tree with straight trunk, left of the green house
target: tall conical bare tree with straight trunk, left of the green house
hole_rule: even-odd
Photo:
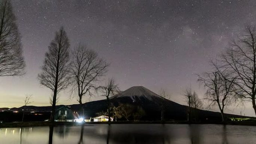
[[[51,122],[54,122],[57,94],[69,84],[69,48],[67,34],[61,27],[48,47],[42,72],[38,75],[40,84],[53,92]]]

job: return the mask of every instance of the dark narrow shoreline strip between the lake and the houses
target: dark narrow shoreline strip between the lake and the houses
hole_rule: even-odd
[[[228,122],[187,122],[187,121],[118,121],[118,122],[10,122],[0,123],[0,128],[20,128],[34,126],[76,126],[76,125],[98,125],[98,124],[200,124],[200,125],[242,125],[256,126],[256,121],[228,121]]]

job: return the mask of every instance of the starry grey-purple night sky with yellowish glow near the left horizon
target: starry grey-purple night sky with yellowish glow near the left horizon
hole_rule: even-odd
[[[25,94],[33,94],[33,105],[49,105],[51,91],[39,85],[37,75],[61,26],[71,49],[87,45],[111,63],[105,79],[115,77],[121,90],[163,88],[171,100],[185,104],[182,94],[189,85],[204,96],[195,74],[211,70],[210,59],[256,20],[254,0],[12,0],[12,5],[27,73],[1,77],[0,107],[22,106]],[[68,90],[61,92],[58,104],[78,103],[69,97]],[[97,99],[103,97],[92,97]],[[240,111],[254,116],[250,103],[226,110]]]

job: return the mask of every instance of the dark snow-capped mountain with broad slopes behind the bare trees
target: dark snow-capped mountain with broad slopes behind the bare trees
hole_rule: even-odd
[[[165,120],[187,120],[188,106],[155,94],[143,86],[134,86],[110,98],[110,102],[118,106],[119,104],[130,104],[140,106],[146,112],[141,120],[161,120],[163,110]],[[84,104],[86,117],[94,117],[98,112],[107,110],[107,100],[92,101]],[[192,108],[193,119],[198,121],[221,121],[221,114],[218,112],[199,110]],[[227,114],[229,117],[244,117]]]

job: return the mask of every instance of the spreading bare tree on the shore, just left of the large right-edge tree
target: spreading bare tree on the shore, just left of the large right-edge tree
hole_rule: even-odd
[[[205,96],[211,105],[218,105],[222,121],[225,120],[225,108],[232,104],[234,99],[234,83],[236,78],[229,78],[231,73],[223,71],[207,72],[198,75],[198,81],[207,89]]]

